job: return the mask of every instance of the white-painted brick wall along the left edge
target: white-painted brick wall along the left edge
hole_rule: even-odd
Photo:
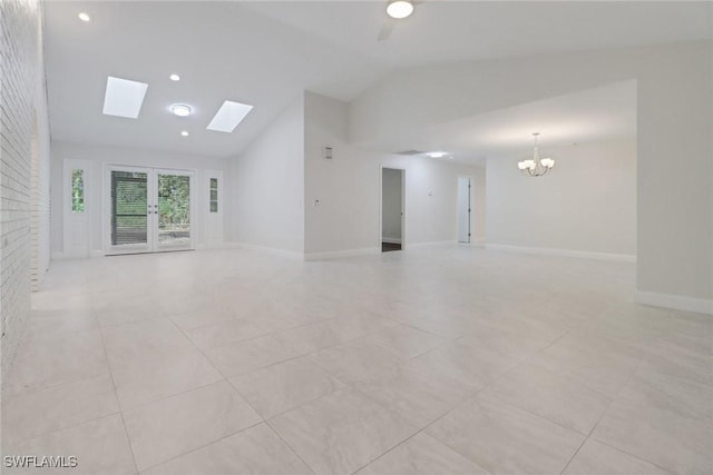
[[[49,263],[49,130],[38,0],[0,2],[0,318],[2,373]]]

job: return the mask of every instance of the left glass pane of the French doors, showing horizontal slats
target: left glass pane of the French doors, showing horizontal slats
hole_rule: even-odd
[[[147,244],[148,175],[111,170],[111,245]]]

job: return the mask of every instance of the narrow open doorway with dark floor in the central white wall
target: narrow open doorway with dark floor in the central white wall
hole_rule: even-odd
[[[404,170],[381,169],[381,251],[401,250],[403,236]]]

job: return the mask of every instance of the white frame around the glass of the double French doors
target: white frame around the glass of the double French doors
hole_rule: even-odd
[[[165,246],[158,245],[158,221],[148,219],[146,246],[137,246],[135,248],[120,248],[111,245],[111,171],[137,171],[147,174],[147,206],[154,205],[154,200],[158,199],[158,175],[184,175],[189,177],[189,201],[191,201],[191,244],[188,246]],[[116,256],[123,254],[148,254],[148,253],[168,253],[174,250],[193,250],[196,248],[197,224],[197,176],[198,172],[191,168],[166,168],[166,167],[148,167],[140,165],[115,165],[104,164],[102,170],[102,204],[101,204],[101,245],[105,256]]]

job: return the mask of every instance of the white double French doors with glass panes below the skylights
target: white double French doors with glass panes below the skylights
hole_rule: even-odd
[[[107,167],[107,254],[195,248],[194,172]]]

